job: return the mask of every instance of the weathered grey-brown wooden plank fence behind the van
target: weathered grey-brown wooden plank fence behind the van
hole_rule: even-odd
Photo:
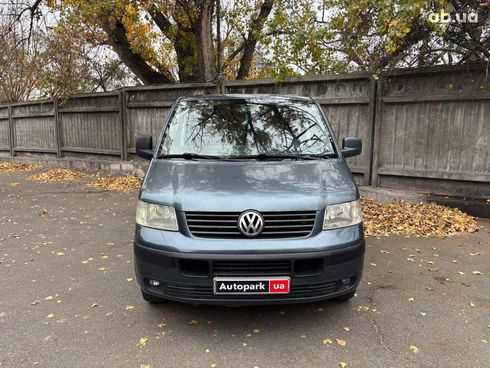
[[[0,106],[0,155],[133,159],[135,137],[156,140],[177,97],[215,91],[211,83],[132,87]],[[360,184],[490,196],[486,65],[230,81],[225,92],[315,98],[339,140],[362,138],[362,155],[348,159]]]

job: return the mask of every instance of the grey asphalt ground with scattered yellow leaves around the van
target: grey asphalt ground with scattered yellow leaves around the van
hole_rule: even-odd
[[[368,239],[345,304],[155,307],[133,279],[135,195],[25,176],[0,175],[2,368],[490,366],[488,220]]]

